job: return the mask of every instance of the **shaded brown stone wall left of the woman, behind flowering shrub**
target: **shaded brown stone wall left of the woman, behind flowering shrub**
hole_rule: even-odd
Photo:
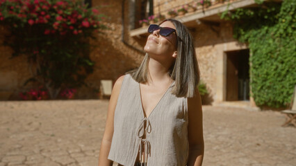
[[[97,40],[91,41],[93,47],[90,56],[95,62],[94,72],[86,80],[88,87],[78,89],[75,98],[98,98],[99,80],[113,80],[114,83],[120,75],[139,66],[144,57],[144,53],[138,51],[142,50],[142,45],[129,37],[129,1],[124,4],[124,39],[132,47],[122,42],[122,1],[93,0],[92,6],[101,6],[99,12],[107,16],[102,24],[108,26],[108,30],[98,33]],[[0,29],[0,42],[6,33],[6,30]],[[26,57],[11,58],[12,53],[10,48],[0,46],[0,100],[20,100],[19,92],[33,86],[23,86],[31,77]]]

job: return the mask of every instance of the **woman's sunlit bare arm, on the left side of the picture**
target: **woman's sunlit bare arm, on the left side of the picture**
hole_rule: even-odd
[[[122,86],[123,79],[124,79],[124,76],[121,76],[120,78],[118,78],[118,80],[115,82],[113,86],[113,90],[110,96],[106,127],[105,127],[104,136],[101,140],[101,149],[99,151],[99,166],[113,165],[113,161],[108,160],[108,154],[110,151],[111,142],[113,138],[114,112],[115,112],[118,96],[120,95],[120,89]]]

